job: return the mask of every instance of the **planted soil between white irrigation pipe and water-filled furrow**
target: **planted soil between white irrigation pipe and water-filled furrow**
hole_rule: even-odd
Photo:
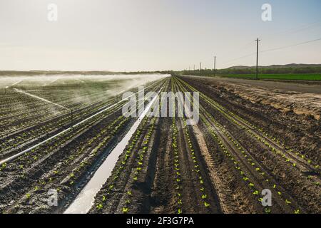
[[[124,118],[116,105],[42,148],[2,166],[1,212],[61,212],[88,182],[131,123],[133,121]],[[58,209],[46,204],[51,188],[58,191]]]

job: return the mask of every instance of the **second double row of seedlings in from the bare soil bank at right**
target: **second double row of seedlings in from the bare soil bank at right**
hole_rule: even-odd
[[[228,151],[227,147],[225,147],[224,143],[222,140],[220,140],[219,136],[214,132],[213,128],[211,128],[210,123],[208,122],[208,120],[206,120],[205,116],[208,116],[208,118],[211,120],[212,123],[214,123],[214,125],[216,126],[216,128],[218,128],[220,130],[220,132],[224,133],[226,135],[226,137],[228,138],[228,140],[230,140],[230,142],[233,142],[233,145],[235,145],[235,147],[238,148],[238,150],[242,153],[242,155],[246,158],[246,160],[248,161],[248,164],[251,165],[253,167],[253,170],[255,170],[256,172],[258,172],[259,175],[261,175],[263,178],[265,178],[265,182],[269,183],[269,185],[271,185],[271,189],[274,189],[277,191],[277,195],[279,195],[280,197],[283,195],[282,192],[279,189],[279,187],[277,187],[277,185],[274,183],[272,184],[272,181],[269,180],[266,177],[265,172],[260,170],[260,167],[258,167],[257,164],[255,164],[255,162],[250,158],[250,153],[248,151],[246,151],[244,149],[244,147],[242,147],[240,145],[240,143],[235,140],[233,138],[232,135],[230,135],[228,133],[227,130],[225,130],[225,128],[223,128],[222,125],[220,125],[220,123],[218,123],[218,121],[216,121],[212,115],[210,115],[210,113],[208,113],[207,110],[205,110],[203,107],[200,107],[201,109],[201,113],[202,115],[200,115],[201,120],[203,120],[203,123],[209,128],[211,135],[213,135],[213,138],[215,139],[215,141],[218,142],[218,145],[221,147],[221,149],[223,150],[223,152],[225,152],[225,154],[227,155],[227,157],[230,158],[230,160],[233,161],[233,164],[235,165],[235,170],[238,170],[238,172],[240,172],[240,175],[242,176],[244,181],[248,181],[248,186],[251,187],[253,189],[253,195],[259,195],[258,190],[254,189],[254,184],[252,182],[249,181],[249,178],[245,175],[245,172],[243,170],[240,169],[240,166],[238,165],[238,162],[235,160],[235,157],[233,157],[233,155]],[[262,198],[258,199],[259,201],[262,201]],[[285,203],[288,204],[290,206],[290,204],[292,202],[290,202],[290,200],[288,199],[284,199]],[[291,206],[290,206],[291,207]],[[293,208],[293,207],[291,207]],[[265,212],[266,213],[270,213],[270,208],[269,207],[265,207]],[[294,209],[294,213],[298,214],[300,213],[300,209]]]

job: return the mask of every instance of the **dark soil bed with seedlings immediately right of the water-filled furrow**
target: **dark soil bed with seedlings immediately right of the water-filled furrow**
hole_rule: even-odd
[[[164,89],[168,82],[163,83]],[[160,134],[158,121],[158,118],[143,119],[118,158],[111,176],[96,195],[90,213],[146,213],[150,210],[156,172],[155,147],[159,145]]]

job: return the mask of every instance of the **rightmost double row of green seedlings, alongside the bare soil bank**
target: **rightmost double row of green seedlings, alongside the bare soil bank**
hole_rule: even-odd
[[[182,80],[180,80],[180,79],[178,79],[178,80],[179,80],[180,82],[182,82],[185,86],[188,86],[191,90],[197,91],[197,90],[195,90],[195,88],[193,88],[192,86],[190,86],[188,83],[185,83],[184,81],[182,81]],[[200,92],[199,92],[199,93],[200,93]],[[258,132],[260,132],[263,136],[268,137],[268,138],[270,138],[272,141],[274,141],[275,144],[279,144],[279,143],[280,143],[280,140],[277,140],[275,137],[272,137],[272,136],[268,135],[267,133],[265,133],[265,132],[263,131],[262,128],[258,128],[258,127],[256,127],[255,125],[253,125],[253,124],[251,124],[250,122],[248,122],[248,120],[244,120],[243,118],[240,118],[240,116],[235,115],[235,113],[230,112],[230,110],[226,110],[226,108],[224,108],[222,105],[216,103],[213,99],[208,98],[208,96],[204,95],[203,93],[200,93],[200,97],[203,98],[207,103],[209,103],[210,105],[212,105],[213,108],[215,108],[215,109],[218,110],[220,113],[222,113],[226,118],[228,118],[228,119],[231,120],[233,123],[235,123],[236,125],[238,125],[241,129],[246,129],[246,128],[245,128],[244,125],[240,124],[240,122],[238,122],[237,120],[235,120],[235,118],[238,119],[238,120],[241,121],[241,122],[244,122],[244,123],[250,125],[251,128],[254,128],[255,130],[258,130]],[[231,115],[232,115],[234,118],[233,118]],[[253,130],[251,130],[251,129],[248,129],[247,131],[248,131],[248,133],[251,133],[251,135],[257,135],[257,136],[258,136],[258,134],[255,133],[255,132],[254,132]],[[256,140],[258,140],[259,138],[263,139],[263,137],[260,137],[260,136],[255,137]],[[295,162],[293,162],[292,159],[290,159],[289,157],[287,157],[287,155],[285,155],[284,152],[282,152],[282,151],[280,151],[280,150],[277,150],[277,148],[275,148],[275,147],[273,147],[272,145],[270,145],[270,143],[267,142],[266,140],[264,140],[264,141],[265,141],[265,143],[264,143],[265,145],[267,145],[267,144],[269,145],[268,147],[270,148],[270,151],[272,151],[272,149],[274,150],[274,151],[272,151],[272,152],[278,151],[277,154],[279,154],[279,155],[281,155],[283,158],[285,158],[285,161],[286,161],[286,162],[292,163],[292,165],[293,165],[294,167],[296,166]],[[285,147],[285,145],[282,143],[282,145],[279,145],[279,147]],[[291,153],[295,152],[295,155],[300,156],[300,158],[302,158],[303,160],[305,160],[307,163],[312,164],[312,161],[311,161],[311,160],[308,160],[307,157],[306,157],[305,155],[302,155],[301,152],[297,152],[297,151],[295,151],[295,150],[292,150],[292,149],[290,149],[289,147],[285,147],[285,149],[286,149],[287,152],[289,152],[289,153],[290,153],[290,152],[291,152]],[[314,167],[315,167],[315,169],[319,169],[319,168],[320,168],[319,165],[314,165]]]

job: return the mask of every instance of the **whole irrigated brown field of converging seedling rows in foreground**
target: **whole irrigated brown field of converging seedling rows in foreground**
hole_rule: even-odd
[[[320,95],[288,92],[277,104],[262,88],[254,97],[210,78],[158,74],[0,82],[1,213],[321,212]],[[199,120],[188,124],[185,106],[151,95],[137,101],[141,115],[124,116],[122,94],[140,86],[173,100],[197,93],[199,103],[188,101]],[[175,115],[148,115],[162,109]]]

